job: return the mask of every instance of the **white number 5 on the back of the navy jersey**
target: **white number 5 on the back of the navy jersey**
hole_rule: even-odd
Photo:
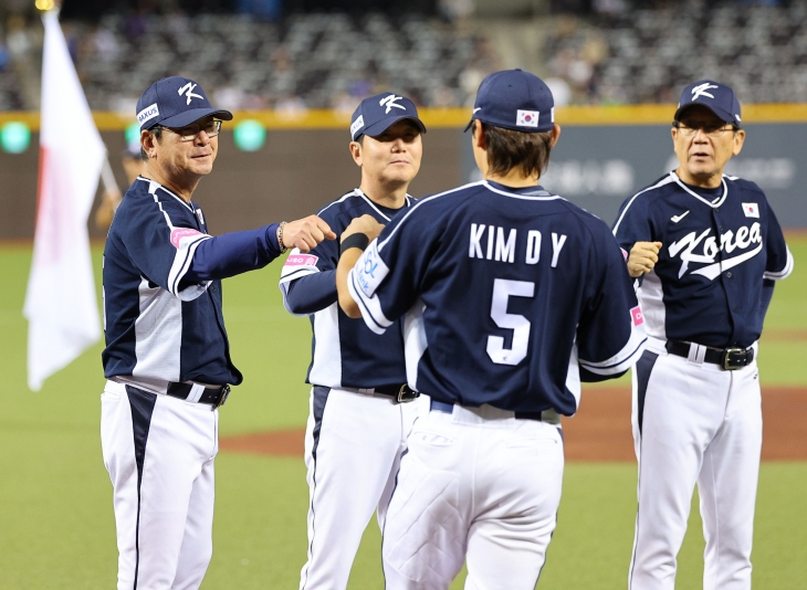
[[[491,317],[500,328],[513,330],[513,344],[510,349],[504,348],[502,336],[488,336],[488,356],[496,365],[515,366],[527,356],[530,320],[518,314],[509,314],[507,302],[510,297],[533,297],[534,295],[535,283],[506,278],[493,281]]]

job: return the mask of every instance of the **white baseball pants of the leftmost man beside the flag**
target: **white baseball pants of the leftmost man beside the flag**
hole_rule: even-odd
[[[218,410],[112,381],[101,407],[118,590],[199,588],[213,550]]]

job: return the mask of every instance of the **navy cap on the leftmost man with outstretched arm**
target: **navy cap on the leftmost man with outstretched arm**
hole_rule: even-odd
[[[140,130],[155,125],[179,129],[208,115],[232,120],[232,113],[213,108],[201,86],[187,77],[164,77],[151,84],[137,101]]]

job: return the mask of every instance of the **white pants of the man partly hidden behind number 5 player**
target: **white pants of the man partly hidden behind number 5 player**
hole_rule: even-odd
[[[313,387],[305,432],[308,560],[301,590],[344,590],[374,510],[384,518],[421,396],[395,403],[382,394]]]

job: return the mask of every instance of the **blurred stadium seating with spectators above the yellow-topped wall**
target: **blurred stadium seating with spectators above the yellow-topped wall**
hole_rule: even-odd
[[[224,108],[290,117],[349,113],[387,87],[420,106],[468,106],[488,73],[514,65],[543,76],[560,106],[672,103],[693,77],[720,78],[746,103],[807,95],[804,0],[112,6],[69,0],[62,14],[95,110],[129,113],[143,87],[177,73],[203,78]],[[35,110],[41,23],[21,0],[0,15],[0,110]]]

